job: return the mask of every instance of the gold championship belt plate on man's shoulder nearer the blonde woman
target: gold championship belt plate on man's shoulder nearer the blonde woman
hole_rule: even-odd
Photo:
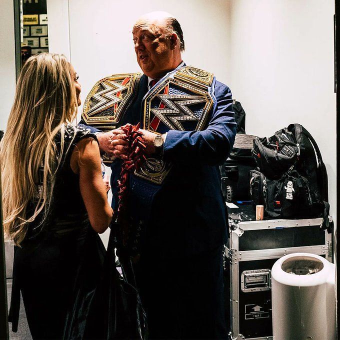
[[[121,118],[136,95],[141,73],[113,74],[97,81],[88,93],[81,117],[103,131],[121,126]],[[114,157],[103,154],[109,164]]]

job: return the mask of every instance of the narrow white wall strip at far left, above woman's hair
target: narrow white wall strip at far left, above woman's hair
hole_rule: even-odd
[[[0,9],[0,130],[4,130],[15,93],[13,0],[1,0]]]

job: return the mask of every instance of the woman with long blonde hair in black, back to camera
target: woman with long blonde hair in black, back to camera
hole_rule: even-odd
[[[9,319],[16,331],[21,290],[33,339],[62,338],[74,303],[86,312],[104,254],[97,233],[112,218],[96,137],[71,124],[77,78],[63,55],[30,57],[1,141],[3,223],[16,245]]]

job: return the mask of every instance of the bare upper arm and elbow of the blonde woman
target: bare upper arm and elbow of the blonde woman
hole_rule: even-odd
[[[74,148],[71,169],[79,174],[79,186],[82,199],[92,228],[104,232],[113,215],[107,202],[106,188],[101,177],[99,146],[92,138],[81,139]]]

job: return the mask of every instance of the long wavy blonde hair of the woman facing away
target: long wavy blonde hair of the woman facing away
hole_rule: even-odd
[[[41,213],[41,224],[51,205],[64,125],[76,116],[72,76],[72,67],[64,55],[40,53],[25,62],[17,80],[0,150],[3,225],[17,245],[24,239],[28,223]],[[60,152],[55,144],[58,131]]]

